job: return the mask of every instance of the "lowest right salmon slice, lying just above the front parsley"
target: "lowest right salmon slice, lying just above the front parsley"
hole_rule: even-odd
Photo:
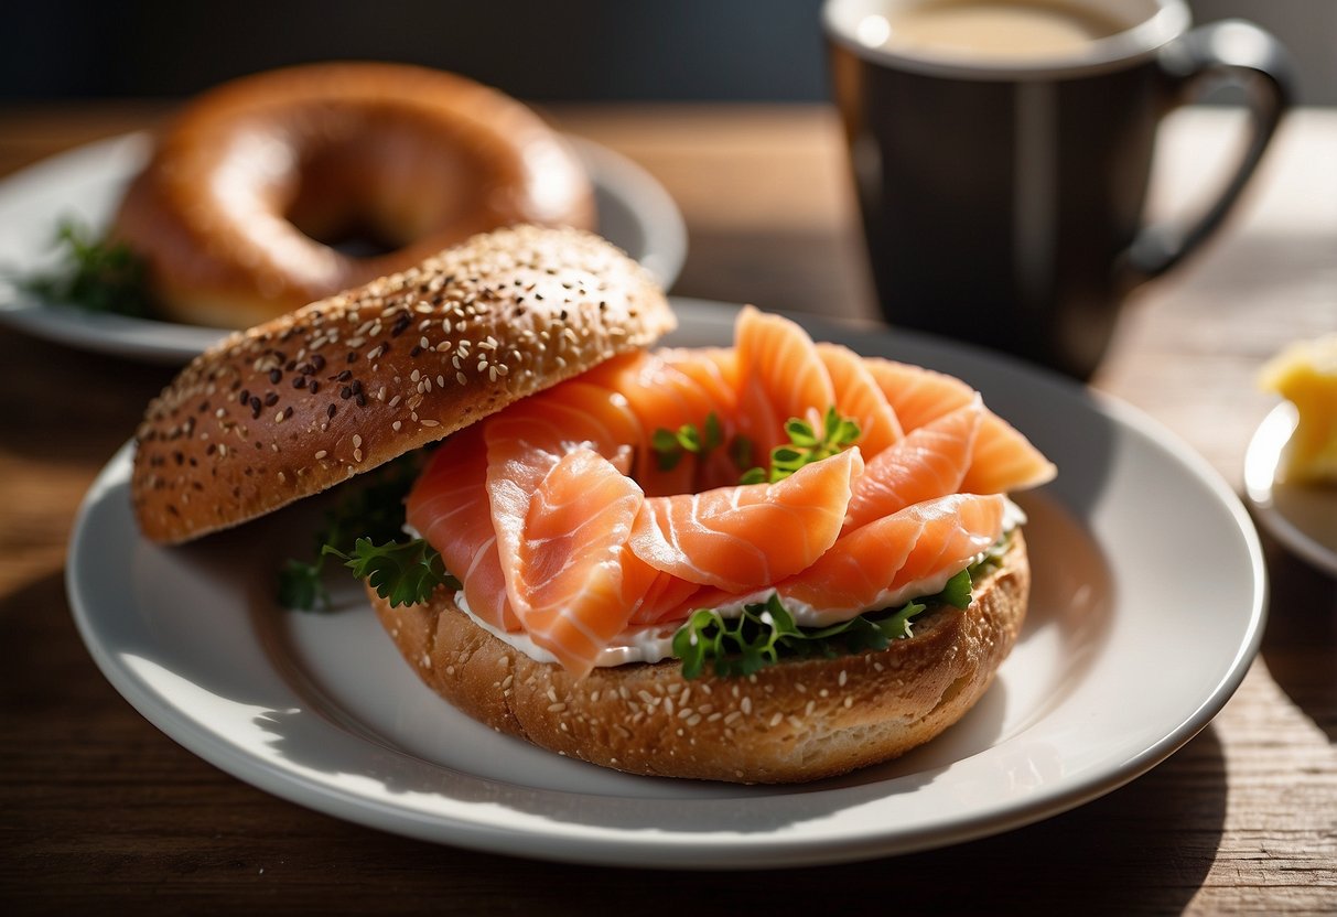
[[[940,592],[1001,533],[1001,496],[952,493],[854,529],[775,591],[833,624]]]

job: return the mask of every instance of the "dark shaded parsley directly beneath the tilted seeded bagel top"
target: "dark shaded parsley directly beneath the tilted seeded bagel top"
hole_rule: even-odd
[[[358,487],[345,492],[325,524],[316,532],[314,560],[287,559],[278,573],[278,602],[298,611],[330,607],[325,588],[325,559],[354,555],[358,540],[369,544],[405,543],[404,497],[417,479],[418,465],[412,456],[396,460],[364,476]]]

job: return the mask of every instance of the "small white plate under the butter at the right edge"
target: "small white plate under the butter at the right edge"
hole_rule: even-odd
[[[1337,489],[1278,480],[1281,457],[1298,414],[1289,401],[1263,418],[1245,453],[1245,496],[1273,537],[1337,576]]]

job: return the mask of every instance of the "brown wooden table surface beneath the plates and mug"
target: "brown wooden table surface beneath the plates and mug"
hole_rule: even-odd
[[[163,111],[0,110],[0,175]],[[830,111],[551,114],[677,198],[691,253],[675,293],[873,314]],[[1170,123],[1158,210],[1210,183],[1231,128],[1214,111]],[[1130,303],[1094,382],[1175,429],[1237,488],[1271,405],[1254,388],[1259,362],[1337,329],[1334,176],[1337,112],[1298,112],[1223,235]],[[435,846],[270,797],[142,719],[99,674],[66,600],[75,508],[168,376],[0,330],[5,913],[806,913],[874,901],[888,913],[1337,912],[1337,585],[1270,543],[1262,652],[1215,720],[1128,786],[1004,835],[845,866],[658,873]]]

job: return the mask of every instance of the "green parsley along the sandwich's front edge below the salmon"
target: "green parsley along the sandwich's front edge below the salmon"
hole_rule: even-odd
[[[836,656],[885,650],[892,640],[913,636],[912,619],[928,608],[971,604],[971,571],[963,569],[935,596],[908,602],[896,610],[858,615],[829,627],[800,627],[771,592],[766,602],[743,606],[737,618],[714,608],[694,611],[674,634],[673,652],[682,660],[683,678],[699,678],[707,663],[721,678],[751,675],[783,658]]]

